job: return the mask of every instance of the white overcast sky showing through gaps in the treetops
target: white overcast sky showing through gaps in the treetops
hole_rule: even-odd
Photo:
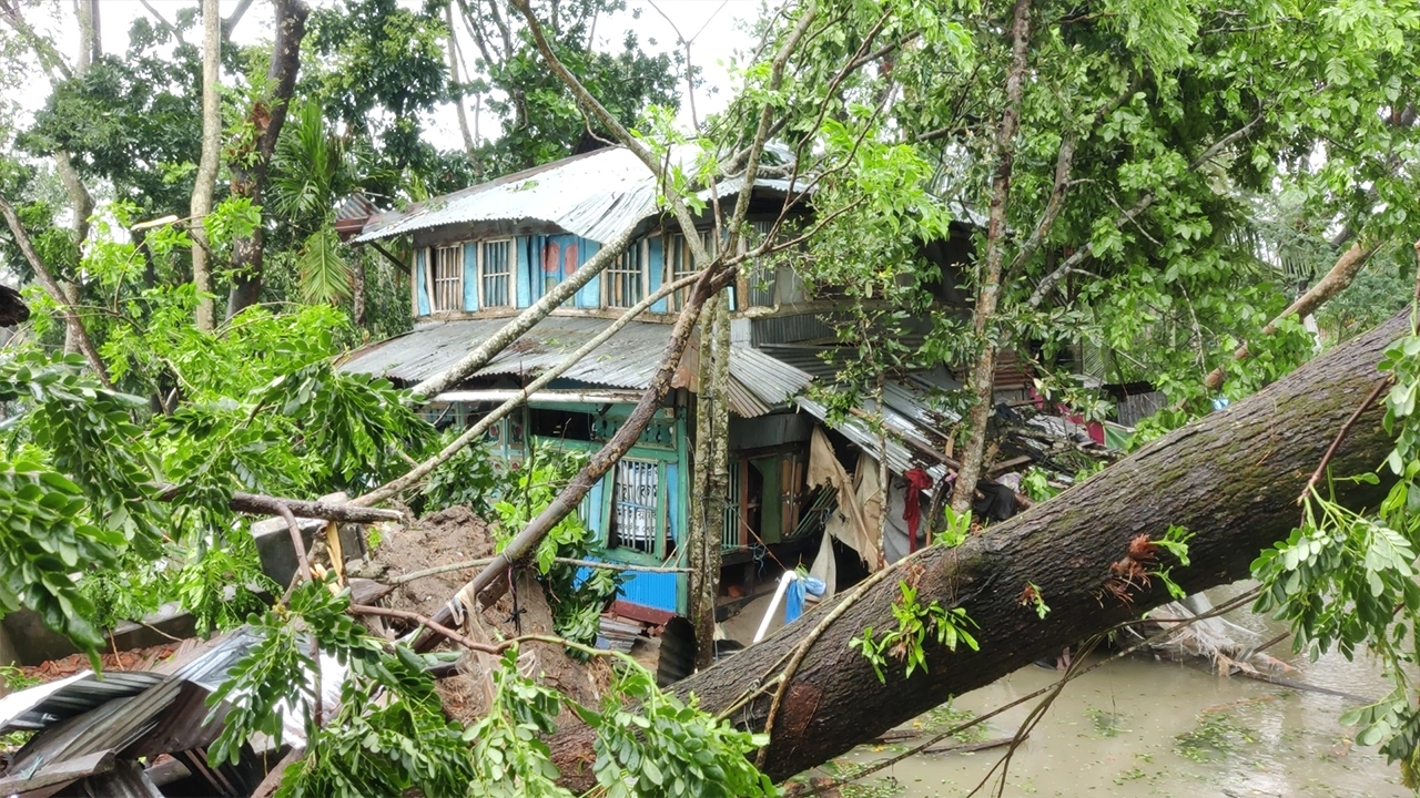
[[[331,6],[337,0],[308,1],[312,6]],[[168,20],[173,20],[179,10],[196,7],[199,3],[197,0],[148,0],[146,4]],[[230,14],[236,4],[237,0],[220,0],[222,14],[224,17]],[[400,4],[415,7],[419,0],[400,0]],[[61,20],[44,20],[33,14],[30,20],[41,30],[57,33],[60,48],[72,57],[78,47],[78,28],[71,16],[71,4],[61,0],[60,7],[67,14]],[[639,16],[632,13],[635,9],[640,9]],[[141,0],[102,0],[99,23],[104,50],[115,53],[125,48],[128,28],[133,18],[149,13]],[[696,94],[696,111],[700,118],[704,118],[706,114],[723,109],[728,102],[733,82],[727,65],[736,50],[750,47],[751,43],[743,28],[758,13],[760,0],[628,0],[626,11],[598,23],[596,35],[602,47],[619,48],[623,31],[630,28],[636,31],[645,50],[669,53],[677,48],[676,30],[679,28],[682,35],[692,40],[692,60],[701,68],[704,78],[704,85]],[[258,0],[241,17],[233,38],[239,44],[268,40],[270,27],[271,6],[266,0]],[[467,41],[467,31],[463,30],[462,24],[454,27],[460,35],[460,48],[464,50],[464,62],[471,62],[473,44]],[[200,30],[187,34],[187,40],[200,41]],[[680,89],[680,122],[689,129],[690,104],[684,97],[683,81]],[[43,80],[30,81],[21,92],[21,105],[33,112],[47,99],[48,84]],[[473,114],[471,106],[469,106],[469,112]],[[425,119],[425,126],[430,143],[444,149],[462,146],[453,105],[436,109]],[[491,119],[484,119],[480,128],[487,132],[496,129],[497,125]]]

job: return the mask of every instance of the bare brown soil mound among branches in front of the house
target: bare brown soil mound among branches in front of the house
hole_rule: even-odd
[[[488,525],[467,507],[449,507],[415,521],[410,527],[385,531],[371,558],[372,568],[362,575],[386,582],[402,574],[493,557],[494,541]],[[398,586],[385,603],[429,616],[479,574],[480,568],[449,571]],[[479,613],[466,632],[474,639],[500,640],[518,635],[551,635],[552,611],[542,586],[523,574],[517,579],[518,622],[513,618],[513,592]],[[447,647],[447,645],[446,645]],[[466,653],[460,673],[439,680],[444,711],[462,723],[473,723],[487,711],[493,683],[487,676],[497,667],[494,657]],[[611,670],[604,657],[581,663],[562,646],[530,642],[521,647],[518,669],[538,683],[557,689],[578,701],[595,704],[605,694]]]

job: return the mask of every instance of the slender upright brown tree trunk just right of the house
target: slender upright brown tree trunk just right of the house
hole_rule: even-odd
[[[995,307],[1001,294],[1001,268],[1005,261],[1005,210],[1011,200],[1011,169],[1015,165],[1015,132],[1021,126],[1021,95],[1025,82],[1025,55],[1031,44],[1031,0],[1015,0],[1011,21],[1011,68],[1005,75],[1005,111],[997,129],[995,176],[991,179],[991,207],[985,226],[985,263],[976,295],[974,328],[981,346],[971,365],[968,388],[971,410],[967,413],[967,442],[961,452],[961,469],[951,491],[951,508],[966,513],[976,497],[981,479],[981,457],[985,454],[987,422],[991,419],[991,396],[995,389]],[[888,486],[883,486],[886,491]],[[886,510],[886,503],[883,504]]]

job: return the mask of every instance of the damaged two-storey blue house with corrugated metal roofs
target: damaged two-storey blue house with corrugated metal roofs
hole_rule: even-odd
[[[754,231],[747,234],[764,236],[785,197],[799,189],[784,179],[760,179],[748,190],[728,180],[719,186],[719,196],[727,214],[734,203],[748,203],[747,227]],[[700,236],[714,250],[709,214],[703,229],[682,230],[657,210],[656,193],[653,176],[633,153],[609,148],[400,212],[346,220],[345,230],[356,244],[382,247],[389,239],[412,244],[406,266],[415,328],[355,351],[342,368],[398,385],[440,373],[586,263],[604,241],[638,224],[633,243],[616,263],[426,408],[440,426],[471,426],[626,308],[692,274],[687,236]],[[808,206],[801,202],[794,213],[808,219]],[[963,226],[951,240],[924,247],[926,256],[951,273],[951,264],[970,251],[967,230]],[[785,569],[811,561],[829,576],[825,581],[832,589],[835,582],[846,584],[926,542],[926,524],[919,528],[919,523],[930,504],[923,497],[946,493],[937,490],[951,466],[943,430],[956,422],[937,398],[960,383],[944,365],[893,375],[882,408],[886,452],[879,433],[858,417],[878,417],[870,400],[855,417],[829,427],[828,410],[805,392],[815,381],[834,381],[839,351],[834,304],[815,298],[788,267],[751,266],[746,271],[731,288],[730,490],[721,535],[721,596],[754,595]],[[940,295],[943,312],[964,308],[954,290]],[[547,389],[532,393],[520,413],[490,430],[488,447],[507,463],[520,461],[537,446],[599,449],[649,385],[683,301],[684,293],[677,293],[653,304]],[[683,542],[696,467],[696,375],[692,345],[655,422],[582,503],[582,520],[601,537],[612,561],[650,567],[687,562]],[[1004,358],[998,375],[1003,399],[1018,400],[1030,385],[1022,366]],[[886,457],[893,483],[882,545],[876,508],[880,457]],[[1003,503],[994,513],[1010,514],[1012,491],[1000,490]],[[826,571],[835,559],[835,540],[843,567],[836,578]],[[633,572],[613,611],[659,625],[684,613],[686,605],[686,574]]]

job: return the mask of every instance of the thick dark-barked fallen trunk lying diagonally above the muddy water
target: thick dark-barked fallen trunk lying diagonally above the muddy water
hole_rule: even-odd
[[[892,576],[868,588],[839,612],[829,602],[777,635],[679,683],[710,711],[738,707],[737,724],[767,726],[777,680],[787,676],[782,707],[771,724],[763,770],[784,780],[825,763],[888,728],[1014,672],[1062,646],[1098,635],[1164,603],[1157,576],[1120,584],[1116,564],[1137,535],[1160,538],[1173,524],[1194,534],[1191,565],[1173,579],[1187,592],[1247,578],[1258,551],[1282,540],[1299,518],[1296,498],[1338,429],[1380,379],[1384,346],[1406,332],[1407,314],[1302,366],[1258,395],[1146,446],[1051,501],[993,527],[956,550],[932,547],[896,564]],[[1392,442],[1369,408],[1331,460],[1333,473],[1375,469]],[[1339,483],[1350,507],[1373,504],[1382,487]],[[889,660],[880,683],[848,642],[872,626],[895,626],[897,582],[913,579],[926,605],[961,606],[980,629],[980,650],[956,653],[927,643],[927,672],[903,677]],[[1049,605],[1042,621],[1022,605],[1034,584]],[[1127,595],[1129,602],[1118,594]],[[829,619],[836,613],[836,619]],[[826,625],[825,625],[826,622]],[[755,692],[763,692],[755,696]],[[743,706],[741,706],[743,704]],[[564,780],[578,785],[592,761],[585,730],[552,740]]]

